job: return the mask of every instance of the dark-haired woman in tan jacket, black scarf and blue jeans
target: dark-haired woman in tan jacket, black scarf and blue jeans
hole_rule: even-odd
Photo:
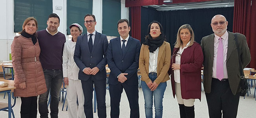
[[[171,62],[170,44],[165,41],[163,27],[157,21],[148,25],[146,41],[141,46],[139,70],[145,100],[146,118],[152,118],[153,96],[155,118],[163,116],[163,95],[169,80],[168,70]]]

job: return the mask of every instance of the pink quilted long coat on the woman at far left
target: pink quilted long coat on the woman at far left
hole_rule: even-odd
[[[11,57],[15,72],[14,96],[30,97],[38,96],[47,91],[43,68],[39,61],[40,47],[38,40],[33,44],[31,38],[17,36],[11,44]],[[19,87],[26,81],[26,89]]]

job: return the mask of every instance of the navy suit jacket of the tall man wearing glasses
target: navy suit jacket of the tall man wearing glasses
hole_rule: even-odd
[[[92,53],[90,53],[89,50],[88,40],[89,39],[87,39],[87,33],[85,33],[84,35],[79,36],[76,41],[74,61],[80,69],[78,73],[78,79],[84,81],[88,80],[89,77],[93,77],[98,80],[106,79],[105,66],[107,65],[107,36],[96,31]],[[95,76],[87,75],[83,73],[83,69],[86,67],[98,67],[100,71]]]

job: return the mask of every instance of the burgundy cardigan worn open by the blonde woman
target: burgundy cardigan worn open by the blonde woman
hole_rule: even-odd
[[[174,48],[173,53],[177,53],[179,48]],[[180,87],[183,99],[201,100],[201,67],[204,61],[204,55],[200,44],[194,42],[192,46],[187,47],[180,58]],[[172,56],[171,65],[175,63],[175,56]],[[171,74],[171,84],[173,97],[175,98],[175,81],[173,70],[168,71]]]

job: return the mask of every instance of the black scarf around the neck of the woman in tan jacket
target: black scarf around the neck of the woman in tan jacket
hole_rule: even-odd
[[[143,44],[148,45],[149,52],[154,52],[158,47],[163,44],[163,35],[161,34],[158,38],[152,39],[150,35],[146,36],[146,41]]]

